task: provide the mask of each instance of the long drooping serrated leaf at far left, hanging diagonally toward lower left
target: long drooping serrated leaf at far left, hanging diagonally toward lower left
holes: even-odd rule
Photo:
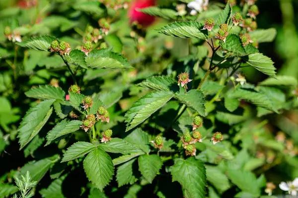
[[[51,105],[54,101],[54,99],[42,101],[27,111],[18,128],[20,149],[24,148],[46,124],[52,114]]]

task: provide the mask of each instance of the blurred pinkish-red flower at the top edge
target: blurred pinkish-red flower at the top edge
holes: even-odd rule
[[[155,0],[135,0],[131,3],[131,6],[128,11],[128,16],[130,18],[130,22],[137,22],[138,24],[141,24],[142,26],[149,26],[151,25],[155,17],[150,16],[148,14],[142,13],[137,11],[138,8],[145,8],[155,5]]]

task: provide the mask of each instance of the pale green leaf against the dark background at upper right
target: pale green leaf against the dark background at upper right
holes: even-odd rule
[[[276,29],[258,29],[249,33],[251,39],[258,43],[273,42],[276,37]]]

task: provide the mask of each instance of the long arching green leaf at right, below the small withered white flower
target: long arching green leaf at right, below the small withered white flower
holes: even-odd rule
[[[228,93],[228,97],[233,99],[244,99],[255,104],[256,106],[276,111],[275,107],[272,105],[271,100],[265,94],[256,92],[254,90],[238,88],[235,90],[231,90]]]

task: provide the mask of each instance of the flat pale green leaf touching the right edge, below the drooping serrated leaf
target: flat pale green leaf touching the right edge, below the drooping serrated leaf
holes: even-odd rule
[[[275,76],[262,81],[260,85],[264,86],[294,86],[298,85],[298,81],[293,76]]]

